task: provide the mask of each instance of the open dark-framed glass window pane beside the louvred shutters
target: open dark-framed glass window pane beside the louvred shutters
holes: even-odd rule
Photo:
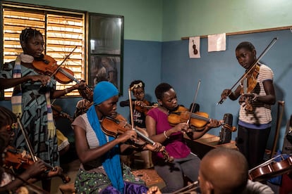
[[[90,13],[88,84],[113,83],[123,91],[123,16]]]

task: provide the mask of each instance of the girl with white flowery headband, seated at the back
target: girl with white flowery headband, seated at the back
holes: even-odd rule
[[[146,131],[145,119],[148,112],[148,108],[146,108],[146,106],[149,106],[150,103],[145,100],[145,83],[142,82],[142,80],[135,80],[130,83],[130,90],[132,91],[133,96],[135,96],[135,99],[132,100],[134,125],[135,127],[140,127]],[[121,101],[120,106],[130,106],[130,101]],[[141,152],[141,156],[144,160],[144,167],[152,167],[150,152],[143,151]]]

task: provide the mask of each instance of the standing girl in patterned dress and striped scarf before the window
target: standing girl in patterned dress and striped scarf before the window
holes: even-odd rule
[[[20,34],[20,44],[23,53],[12,63],[5,64],[0,72],[0,89],[13,87],[12,110],[21,118],[35,155],[55,167],[59,165],[59,153],[50,99],[85,88],[85,82],[56,90],[54,77],[38,72],[33,65],[43,58],[44,39],[41,32],[26,28]],[[14,145],[28,150],[21,131],[16,131]],[[50,180],[43,181],[43,188],[50,190]]]

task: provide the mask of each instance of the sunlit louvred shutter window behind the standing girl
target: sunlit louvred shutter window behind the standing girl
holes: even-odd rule
[[[58,65],[62,63],[62,67],[72,70],[76,79],[85,79],[85,13],[2,2],[2,20],[4,63],[15,60],[22,52],[19,35],[26,27],[32,27],[43,34],[44,54],[54,58]],[[56,89],[74,84],[57,83]],[[11,93],[12,89],[7,89],[5,97],[11,97]],[[67,94],[75,95],[79,95],[78,91]]]

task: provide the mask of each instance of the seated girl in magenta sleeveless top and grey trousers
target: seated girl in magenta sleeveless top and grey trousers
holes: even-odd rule
[[[147,113],[146,128],[149,137],[153,141],[162,143],[169,155],[174,157],[173,163],[166,163],[160,153],[152,154],[154,169],[166,183],[162,193],[171,193],[183,188],[184,175],[194,182],[197,181],[199,172],[200,158],[190,152],[190,148],[184,141],[183,134],[188,134],[192,139],[200,138],[212,127],[219,127],[220,122],[211,119],[203,129],[194,132],[193,129],[189,129],[186,122],[181,122],[171,127],[168,122],[168,114],[178,108],[176,91],[171,85],[162,83],[156,87],[155,96],[159,107],[152,108]]]

